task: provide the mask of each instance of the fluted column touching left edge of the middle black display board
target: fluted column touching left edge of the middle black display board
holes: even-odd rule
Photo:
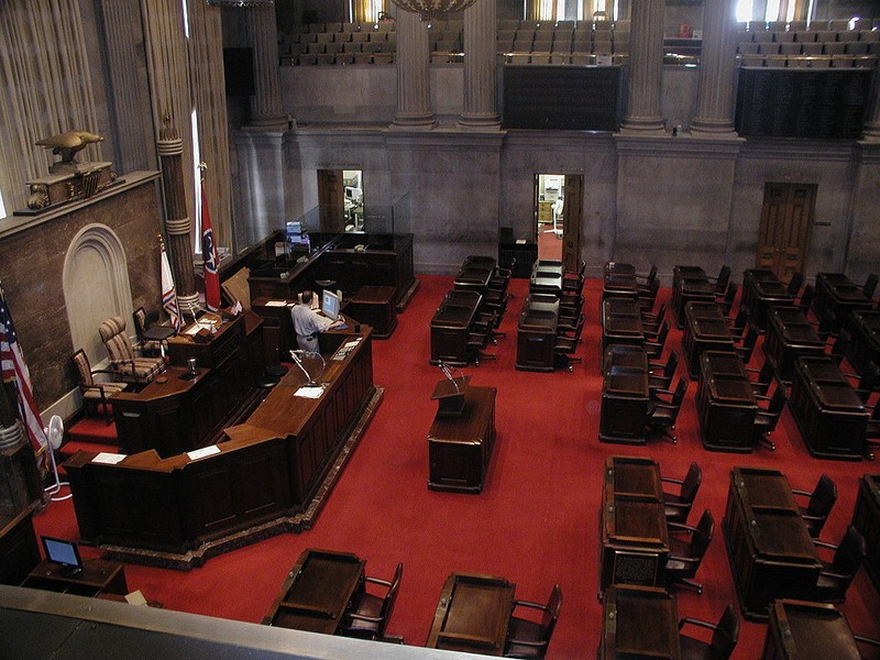
[[[495,100],[495,0],[464,10],[464,112],[462,127],[501,125]]]

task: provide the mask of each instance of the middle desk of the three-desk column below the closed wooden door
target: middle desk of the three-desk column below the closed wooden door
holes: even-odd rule
[[[825,342],[795,307],[770,309],[762,348],[765,356],[773,363],[777,377],[787,383],[794,375],[795,358],[821,358],[825,353]]]

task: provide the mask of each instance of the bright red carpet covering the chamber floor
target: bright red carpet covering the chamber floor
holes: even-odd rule
[[[514,280],[516,298],[502,327],[507,337],[492,350],[497,361],[465,370],[473,384],[498,388],[498,440],[486,487],[481,495],[428,491],[426,435],[436,410],[429,397],[440,376],[428,364],[428,322],[452,283],[449,277],[420,279],[421,288],[393,338],[374,342],[375,382],[385,387],[385,399],[316,528],[211,559],[187,573],[128,565],[132,590],[167,608],[260,622],[302,549],[345,550],[365,558],[367,573],[382,578],[404,562],[388,631],[403,635],[409,645],[425,644],[443,581],[462,571],[503,575],[516,583],[517,597],[529,601],[544,601],[553,583],[560,583],[564,603],[548,657],[593,657],[602,629],[597,509],[606,455],[651,457],[670,476],[683,476],[691,461],[702,466],[703,487],[692,521],[710,508],[716,536],[697,574],[703,595],[680,591],[679,614],[713,622],[728,602],[736,602],[721,534],[732,466],[779,469],[802,490],[812,490],[823,472],[831,475],[840,498],[823,539],[833,542],[849,524],[859,476],[880,471],[873,463],[812,459],[788,410],[773,437],[776,452],[706,452],[696,426],[695,383],[679,419],[678,446],[600,443],[600,283],[590,280],[586,288],[584,363],[574,373],[542,374],[514,369],[516,319],[526,292],[524,280]],[[664,289],[661,296],[668,294]],[[678,348],[680,338],[673,329],[668,346]],[[762,359],[759,344],[752,364]],[[70,502],[53,504],[35,521],[40,534],[78,537]],[[880,637],[880,596],[864,571],[843,609],[857,632]],[[744,623],[734,658],[759,657],[765,630]]]

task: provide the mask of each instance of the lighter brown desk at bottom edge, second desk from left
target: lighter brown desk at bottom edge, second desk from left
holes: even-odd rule
[[[443,585],[425,646],[502,656],[516,585],[504,578],[452,573]]]

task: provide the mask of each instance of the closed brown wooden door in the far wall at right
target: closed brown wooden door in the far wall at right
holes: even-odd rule
[[[803,272],[816,202],[812,184],[766,184],[755,265],[788,283]]]

